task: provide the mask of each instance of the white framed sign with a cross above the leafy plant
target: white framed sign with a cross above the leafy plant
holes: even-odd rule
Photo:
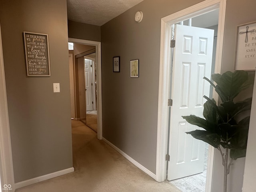
[[[238,27],[236,70],[255,70],[256,23]]]

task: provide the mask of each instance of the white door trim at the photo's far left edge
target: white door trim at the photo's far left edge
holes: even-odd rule
[[[4,185],[11,185],[13,191],[14,186],[14,172],[12,162],[12,148],[10,138],[10,126],[6,96],[6,83],[4,75],[4,56],[2,50],[2,35],[0,27],[0,191]]]

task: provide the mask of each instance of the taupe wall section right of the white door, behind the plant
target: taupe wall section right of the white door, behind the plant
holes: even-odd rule
[[[227,0],[222,72],[234,70],[236,59],[237,27],[248,22],[256,21],[255,7],[255,0]],[[248,95],[244,95],[244,98],[248,98],[250,96],[252,96],[252,90],[250,93],[248,93]],[[222,190],[223,166],[219,162],[220,158],[220,153],[216,150],[214,159],[216,163],[214,164],[213,192]],[[242,191],[244,162],[245,158],[239,158],[231,167],[231,174],[228,176],[228,188],[230,192]]]

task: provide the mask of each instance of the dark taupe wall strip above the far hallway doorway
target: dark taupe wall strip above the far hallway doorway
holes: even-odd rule
[[[100,26],[68,20],[68,37],[100,42]]]

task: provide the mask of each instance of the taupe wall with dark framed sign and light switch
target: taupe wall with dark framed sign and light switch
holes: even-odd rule
[[[0,22],[15,182],[71,168],[66,0],[1,0]],[[50,77],[26,76],[23,31],[48,34]]]

